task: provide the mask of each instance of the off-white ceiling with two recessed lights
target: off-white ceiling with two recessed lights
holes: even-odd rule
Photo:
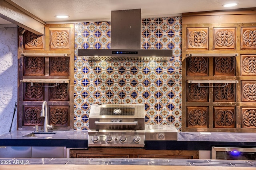
[[[256,7],[256,0],[12,0],[46,23],[109,21],[112,10],[138,9],[142,18],[181,16],[186,12],[202,12]],[[235,7],[224,8],[228,2]],[[56,15],[68,15],[58,19]],[[0,24],[11,23],[0,18]]]

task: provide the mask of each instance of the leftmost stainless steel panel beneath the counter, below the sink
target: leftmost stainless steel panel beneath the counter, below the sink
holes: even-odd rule
[[[0,147],[0,158],[31,158],[31,147]]]

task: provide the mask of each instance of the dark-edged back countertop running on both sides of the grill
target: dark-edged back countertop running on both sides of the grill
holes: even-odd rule
[[[0,146],[65,146],[88,148],[88,131],[54,131],[50,137],[24,137],[33,131],[13,131],[0,135]],[[212,146],[254,147],[256,133],[178,132],[177,141],[145,141],[145,149],[211,150]]]

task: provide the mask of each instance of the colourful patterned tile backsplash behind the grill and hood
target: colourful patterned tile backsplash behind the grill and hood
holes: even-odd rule
[[[181,17],[142,19],[142,49],[172,49],[170,61],[86,61],[77,49],[109,49],[110,21],[76,23],[74,130],[88,130],[90,106],[145,104],[147,124],[181,130]]]

